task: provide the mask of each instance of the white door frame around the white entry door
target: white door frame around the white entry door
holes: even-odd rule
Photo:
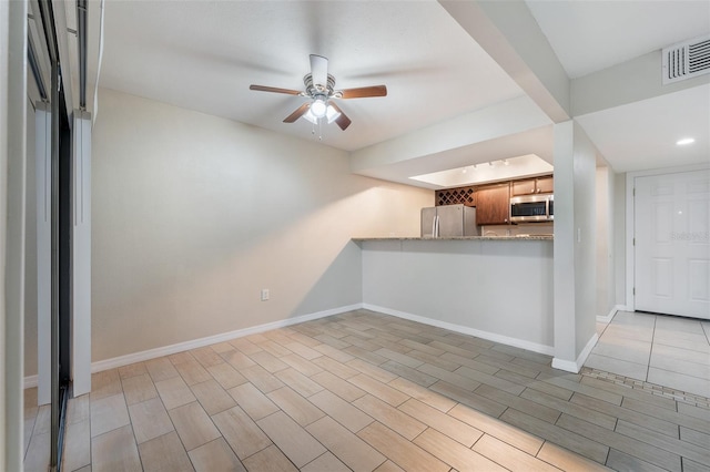
[[[636,215],[633,212],[633,183],[637,177],[649,177],[656,175],[669,175],[679,174],[682,172],[693,171],[709,171],[710,164],[694,164],[683,165],[678,167],[663,167],[649,171],[628,172],[626,174],[626,234],[625,234],[625,248],[626,248],[626,309],[629,311],[636,311],[636,296],[633,295],[633,288],[636,287],[636,257],[633,250],[633,238],[636,233],[633,230],[633,223]]]

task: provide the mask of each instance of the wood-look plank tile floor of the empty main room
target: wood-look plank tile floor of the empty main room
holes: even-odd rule
[[[95,373],[70,401],[63,470],[710,471],[709,409],[550,362],[372,311],[332,316]],[[36,394],[27,471],[49,455]]]

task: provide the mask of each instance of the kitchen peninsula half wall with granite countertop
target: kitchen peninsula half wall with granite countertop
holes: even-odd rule
[[[552,355],[552,237],[354,238],[365,308]]]

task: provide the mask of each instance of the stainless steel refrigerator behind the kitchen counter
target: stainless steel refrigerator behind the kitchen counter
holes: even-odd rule
[[[444,205],[422,208],[422,237],[479,236],[476,208]]]

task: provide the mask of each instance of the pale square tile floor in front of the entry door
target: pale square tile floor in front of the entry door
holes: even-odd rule
[[[585,366],[710,397],[710,321],[618,311]]]

